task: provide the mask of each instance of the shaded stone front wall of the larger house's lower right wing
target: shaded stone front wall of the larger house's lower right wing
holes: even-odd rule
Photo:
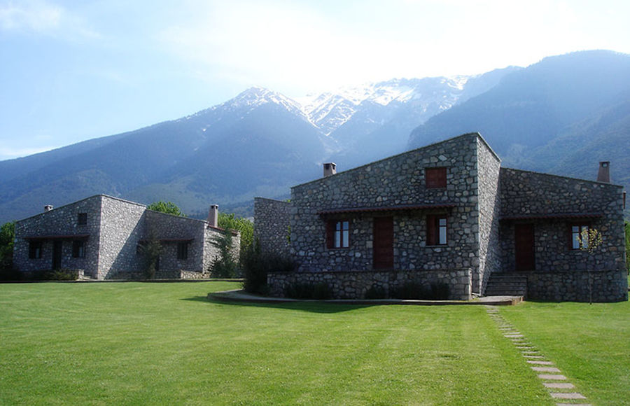
[[[562,176],[501,169],[501,216],[523,216],[501,222],[503,270],[514,265],[514,223],[534,225],[535,269],[556,272],[585,269],[624,269],[625,235],[622,187]],[[602,214],[601,218],[531,219],[549,214]],[[603,243],[594,255],[572,250],[569,228],[587,223],[602,233]]]

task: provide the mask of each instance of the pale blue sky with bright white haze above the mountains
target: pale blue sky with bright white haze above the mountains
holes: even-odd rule
[[[630,1],[0,0],[0,160],[288,97],[630,53]]]

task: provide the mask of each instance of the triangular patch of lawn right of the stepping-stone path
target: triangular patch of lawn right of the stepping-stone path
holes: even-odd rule
[[[500,313],[594,405],[630,405],[630,302],[526,302]]]

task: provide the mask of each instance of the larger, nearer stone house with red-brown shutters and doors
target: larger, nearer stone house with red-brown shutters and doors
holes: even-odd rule
[[[297,262],[269,274],[275,295],[326,283],[335,297],[360,298],[410,282],[470,299],[515,274],[529,298],[616,301],[628,294],[623,201],[609,179],[502,168],[473,133],[338,174],[325,164],[290,203],[256,198],[255,234]],[[603,239],[589,253],[577,237],[593,229]]]

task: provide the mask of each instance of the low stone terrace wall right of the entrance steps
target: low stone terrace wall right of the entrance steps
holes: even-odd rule
[[[554,302],[624,302],[628,300],[625,269],[591,272],[571,269],[563,272],[519,272],[527,276],[527,299]],[[589,281],[591,295],[589,295]]]

